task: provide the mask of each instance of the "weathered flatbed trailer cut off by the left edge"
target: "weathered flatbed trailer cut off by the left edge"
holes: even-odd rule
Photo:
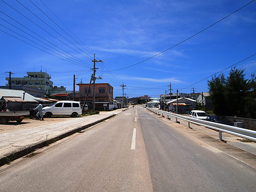
[[[0,111],[0,124],[7,124],[9,121],[20,123],[28,115],[29,111]]]

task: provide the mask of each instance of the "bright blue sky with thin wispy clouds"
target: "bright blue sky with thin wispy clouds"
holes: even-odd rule
[[[13,77],[23,77],[26,76],[26,71],[34,71],[34,69],[40,71],[42,66],[42,71],[47,71],[51,75],[53,85],[63,85],[71,91],[74,74],[77,77],[77,83],[81,79],[83,83],[90,82],[92,74],[90,68],[93,67],[91,60],[95,54],[97,60],[103,61],[103,63],[97,63],[99,69],[96,75],[102,77],[97,80],[97,83],[109,83],[113,86],[114,96],[122,95],[120,85],[123,83],[126,85],[125,93],[130,98],[145,94],[159,97],[165,91],[170,92],[168,86],[170,82],[174,92],[179,89],[183,93],[191,93],[192,87],[196,92],[207,92],[207,79],[195,85],[192,84],[256,53],[256,1],[201,34],[145,62],[141,61],[182,42],[249,3],[250,0],[31,0],[69,35],[29,0],[19,0],[19,2],[52,29],[18,1],[3,1],[0,1],[0,18],[2,18],[0,30],[40,47],[28,40],[31,39],[58,53],[59,55],[40,47],[58,57],[68,58],[66,56],[68,55],[68,59],[77,62],[77,65],[38,50],[0,31],[0,85],[6,84],[5,77],[8,76],[6,71],[12,71]],[[3,13],[27,28],[20,26]],[[3,19],[60,52],[23,33]],[[136,63],[139,64],[134,65]],[[134,66],[129,67],[131,65]],[[256,56],[239,63],[237,67],[245,69],[246,78],[250,78],[251,73],[256,69]],[[118,70],[121,68],[125,69]],[[230,68],[223,73],[226,75],[229,70]]]

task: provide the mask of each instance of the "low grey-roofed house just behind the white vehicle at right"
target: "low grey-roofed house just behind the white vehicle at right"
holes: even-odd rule
[[[173,99],[167,102],[169,111],[176,111],[177,110],[177,99]],[[178,99],[178,112],[179,113],[188,113],[196,109],[196,100],[190,98],[179,98]]]

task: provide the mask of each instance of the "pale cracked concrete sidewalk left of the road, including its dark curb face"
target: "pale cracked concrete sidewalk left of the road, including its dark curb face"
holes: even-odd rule
[[[25,156],[35,149],[42,148],[52,142],[68,137],[87,127],[105,121],[119,113],[122,109],[100,113],[98,115],[66,118],[58,123],[44,124],[39,126],[26,126],[12,132],[0,132],[0,166],[14,159]]]

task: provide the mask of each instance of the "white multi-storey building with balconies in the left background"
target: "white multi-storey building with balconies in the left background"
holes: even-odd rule
[[[6,84],[6,86],[9,86],[9,77],[6,77],[5,79],[8,81],[8,84]],[[31,87],[34,89],[44,90],[46,91],[46,94],[51,94],[51,91],[58,90],[58,87],[53,88],[53,82],[50,81],[50,79],[51,76],[45,72],[27,72],[27,76],[24,77],[11,77],[11,85],[22,85],[26,87]],[[60,87],[60,92],[66,93],[66,87]]]

